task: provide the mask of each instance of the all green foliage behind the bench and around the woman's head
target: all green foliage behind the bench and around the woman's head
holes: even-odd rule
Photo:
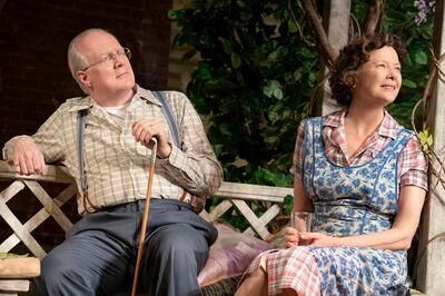
[[[318,49],[310,46],[316,39],[300,2],[191,2],[192,8],[169,12],[180,28],[174,46],[191,48],[184,59],[200,55],[187,95],[209,124],[208,136],[225,179],[290,186],[296,130],[307,114],[323,63]],[[367,1],[353,1],[352,16],[358,23],[366,9]],[[388,109],[409,127],[411,109],[427,80],[432,20],[416,26],[413,0],[386,1],[384,11],[382,30],[402,36],[409,52],[403,67],[403,89]],[[256,213],[266,206],[251,205]],[[289,207],[290,201],[284,210]],[[246,226],[236,210],[227,215],[239,219],[234,223],[238,228]]]

